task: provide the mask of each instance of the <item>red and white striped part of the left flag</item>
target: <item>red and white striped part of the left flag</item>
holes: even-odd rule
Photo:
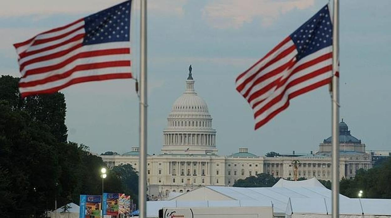
[[[14,44],[22,97],[81,82],[132,78],[129,42],[83,45],[84,35],[84,19],[79,19]]]

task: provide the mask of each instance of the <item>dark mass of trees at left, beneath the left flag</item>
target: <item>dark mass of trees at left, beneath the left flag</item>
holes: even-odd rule
[[[102,159],[83,144],[67,142],[66,103],[61,93],[21,98],[19,78],[0,78],[0,216],[43,214],[80,194],[100,195]],[[137,199],[131,165],[108,170],[104,191]]]

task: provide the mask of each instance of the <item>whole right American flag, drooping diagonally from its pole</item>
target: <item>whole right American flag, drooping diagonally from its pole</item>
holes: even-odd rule
[[[328,5],[236,79],[253,108],[255,129],[289,106],[289,100],[331,82],[333,27]]]

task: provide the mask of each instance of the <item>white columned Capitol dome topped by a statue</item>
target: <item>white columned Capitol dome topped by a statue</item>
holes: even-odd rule
[[[176,99],[163,131],[163,154],[215,154],[216,130],[208,105],[194,90],[189,69],[185,92]]]

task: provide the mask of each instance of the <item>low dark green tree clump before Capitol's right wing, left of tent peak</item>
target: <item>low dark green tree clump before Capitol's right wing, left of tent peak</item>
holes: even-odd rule
[[[250,176],[246,179],[239,179],[233,186],[235,187],[271,187],[280,180],[280,177],[274,178],[273,175],[261,173],[256,176]]]

